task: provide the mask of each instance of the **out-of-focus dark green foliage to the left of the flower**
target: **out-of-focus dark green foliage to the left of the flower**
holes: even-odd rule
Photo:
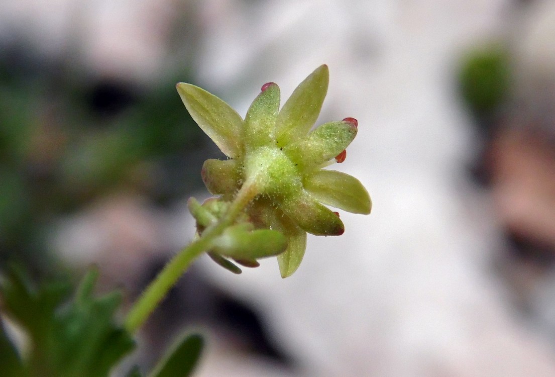
[[[98,197],[164,205],[202,185],[190,161],[204,138],[175,91],[189,73],[138,86],[18,51],[0,48],[0,270],[55,268],[48,225]]]

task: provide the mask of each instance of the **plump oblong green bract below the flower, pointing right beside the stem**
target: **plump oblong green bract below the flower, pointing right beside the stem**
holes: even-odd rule
[[[253,260],[273,257],[285,250],[287,239],[271,229],[250,230],[251,224],[238,224],[216,238],[212,250],[225,257]]]

